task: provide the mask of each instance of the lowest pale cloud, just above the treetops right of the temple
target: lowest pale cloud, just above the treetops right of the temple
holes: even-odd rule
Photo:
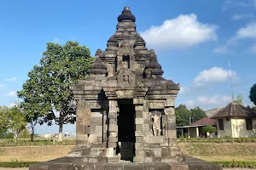
[[[198,96],[196,99],[185,102],[188,108],[200,106],[201,108],[214,108],[218,106],[227,105],[232,101],[231,96],[227,95],[213,95],[213,96]]]

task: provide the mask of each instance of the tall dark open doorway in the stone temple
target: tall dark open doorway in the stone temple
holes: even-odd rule
[[[133,161],[135,155],[135,109],[132,99],[119,100],[118,150],[120,160]]]

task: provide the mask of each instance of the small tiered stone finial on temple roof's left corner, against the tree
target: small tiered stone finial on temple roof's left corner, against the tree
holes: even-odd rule
[[[90,66],[88,71],[89,75],[106,75],[108,73],[108,68],[102,63],[100,57],[96,57],[94,63]]]

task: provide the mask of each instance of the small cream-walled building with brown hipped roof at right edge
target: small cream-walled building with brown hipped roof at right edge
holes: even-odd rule
[[[243,105],[230,103],[215,112],[211,119],[216,120],[218,137],[256,137],[256,111]]]

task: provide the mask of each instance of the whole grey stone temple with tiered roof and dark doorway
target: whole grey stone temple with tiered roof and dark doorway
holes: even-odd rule
[[[30,169],[221,169],[184,157],[177,148],[174,106],[180,86],[162,77],[129,7],[118,21],[108,47],[96,51],[88,79],[72,87],[75,148]]]

